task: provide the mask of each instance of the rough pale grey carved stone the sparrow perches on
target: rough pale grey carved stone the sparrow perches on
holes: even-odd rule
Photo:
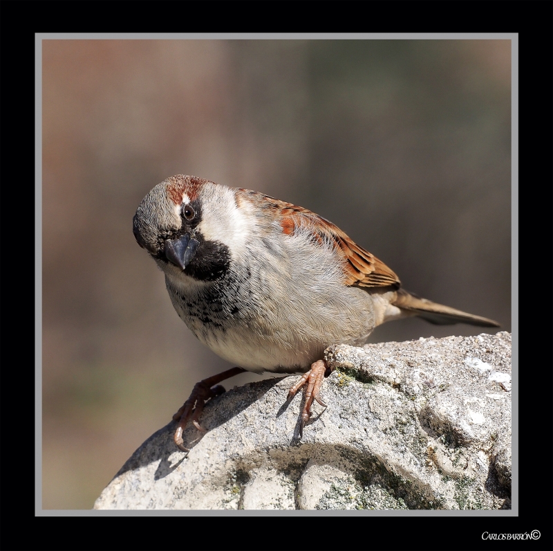
[[[324,410],[298,438],[296,376],[231,390],[154,433],[95,509],[506,509],[511,336],[329,347]]]

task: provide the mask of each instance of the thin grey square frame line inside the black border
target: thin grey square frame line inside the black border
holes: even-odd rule
[[[42,509],[42,41],[43,40],[511,40],[512,509],[505,511],[95,511]],[[35,33],[35,516],[518,516],[518,33]]]

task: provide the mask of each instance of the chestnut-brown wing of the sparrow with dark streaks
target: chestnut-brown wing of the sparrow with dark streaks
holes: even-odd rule
[[[393,287],[399,289],[400,279],[384,262],[355,244],[340,228],[306,208],[286,203],[268,195],[251,190],[243,190],[251,199],[267,208],[271,213],[279,213],[283,233],[290,235],[295,228],[305,226],[308,221],[313,228],[313,239],[322,242],[324,238],[335,242],[337,250],[347,261],[344,266],[344,283],[356,287]],[[252,197],[255,195],[256,197]],[[302,224],[302,220],[304,224]]]

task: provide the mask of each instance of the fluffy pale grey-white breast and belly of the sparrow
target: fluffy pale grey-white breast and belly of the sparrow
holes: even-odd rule
[[[276,238],[273,231],[280,232]],[[255,372],[306,371],[328,345],[360,345],[375,327],[371,295],[344,286],[332,244],[311,239],[308,228],[283,235],[274,227],[244,240],[232,251],[238,283],[209,284],[221,287],[226,308],[216,324],[190,316],[174,291],[201,302],[207,284],[168,277],[171,300],[200,341],[230,363]],[[239,314],[230,315],[233,309]]]

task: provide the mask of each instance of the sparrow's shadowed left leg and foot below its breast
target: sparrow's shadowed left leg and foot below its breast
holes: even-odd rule
[[[185,447],[184,440],[182,440],[182,431],[185,430],[190,419],[198,431],[207,433],[207,429],[200,425],[199,419],[205,406],[205,402],[209,399],[220,396],[223,392],[225,392],[225,388],[217,383],[220,383],[225,379],[229,379],[230,377],[234,377],[234,375],[244,371],[245,370],[242,368],[232,368],[196,383],[194,390],[192,390],[187,401],[185,401],[177,413],[173,415],[173,420],[178,422],[178,426],[173,437],[178,449],[184,451],[185,453],[190,451],[187,447]]]

